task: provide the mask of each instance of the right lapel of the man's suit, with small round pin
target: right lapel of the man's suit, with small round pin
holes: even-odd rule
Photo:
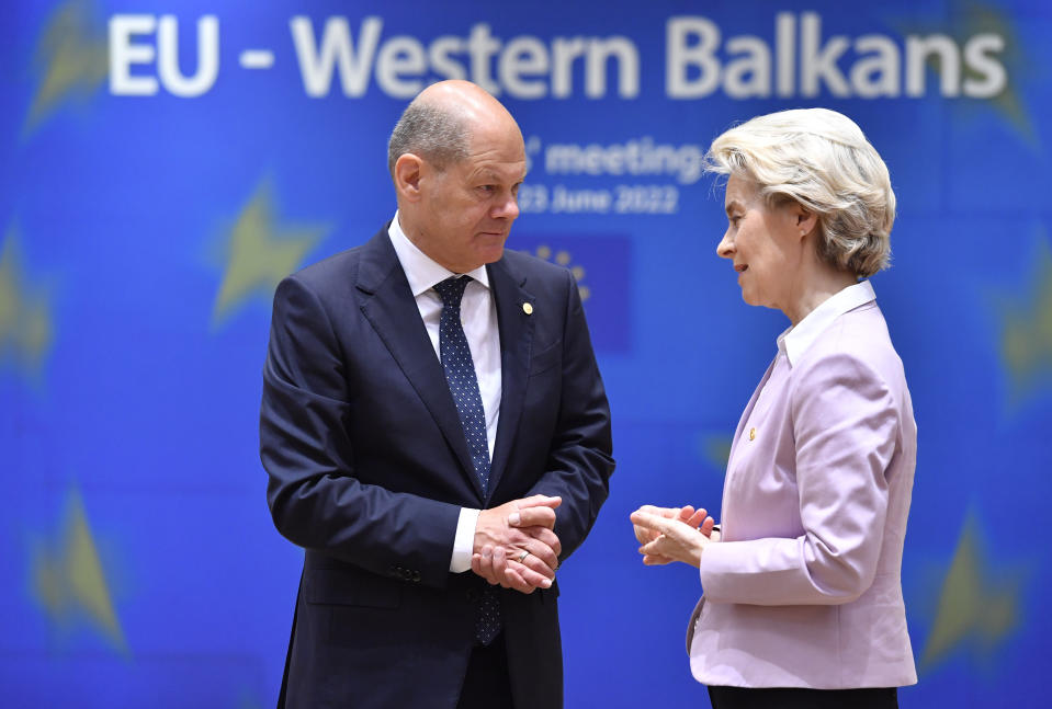
[[[533,296],[524,288],[525,278],[513,273],[507,260],[490,264],[488,272],[500,333],[500,419],[489,468],[491,495],[507,468],[522,415],[536,316],[528,315],[522,309],[524,302],[533,302]]]

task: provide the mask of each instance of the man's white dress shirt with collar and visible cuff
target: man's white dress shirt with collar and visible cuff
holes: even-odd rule
[[[497,438],[497,419],[500,414],[500,333],[497,329],[497,306],[489,288],[489,274],[486,266],[479,266],[466,274],[456,274],[439,265],[420,251],[401,230],[398,213],[387,229],[391,244],[406,272],[409,289],[416,300],[420,318],[427,328],[434,356],[441,361],[439,348],[439,322],[442,317],[442,297],[434,285],[456,275],[472,278],[461,299],[461,325],[467,338],[467,346],[475,364],[475,377],[478,379],[478,392],[483,399],[483,412],[486,416],[486,442],[489,445],[489,458],[493,460],[494,442]],[[475,541],[475,524],[478,510],[462,507],[453,539],[453,557],[450,571],[461,573],[471,569],[472,550]]]

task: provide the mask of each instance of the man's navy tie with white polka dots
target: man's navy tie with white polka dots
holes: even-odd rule
[[[489,443],[486,438],[486,411],[478,391],[475,362],[467,346],[467,336],[461,325],[461,298],[470,277],[454,276],[435,284],[442,296],[442,317],[439,320],[439,354],[450,393],[456,404],[456,413],[467,439],[475,474],[482,482],[483,494],[489,492]],[[478,596],[475,616],[475,639],[484,645],[493,642],[500,632],[500,602],[493,588],[484,588]]]

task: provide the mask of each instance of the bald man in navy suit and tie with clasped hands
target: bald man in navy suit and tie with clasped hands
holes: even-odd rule
[[[274,296],[260,455],[304,547],[279,706],[561,707],[555,571],[613,471],[573,276],[505,241],[522,135],[465,81],[391,136],[394,218]]]

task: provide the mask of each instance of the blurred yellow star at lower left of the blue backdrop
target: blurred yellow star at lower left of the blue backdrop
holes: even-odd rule
[[[53,622],[61,628],[86,622],[113,648],[127,652],[83,501],[76,490],[67,496],[56,542],[37,545],[32,578],[34,596]]]

